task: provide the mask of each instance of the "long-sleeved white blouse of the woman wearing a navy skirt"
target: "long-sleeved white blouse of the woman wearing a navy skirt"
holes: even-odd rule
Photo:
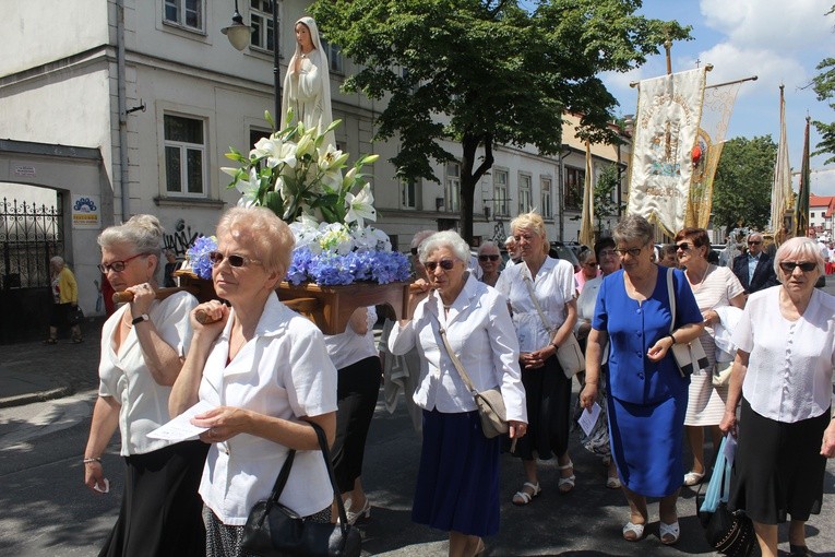
[[[508,301],[475,276],[466,281],[449,317],[440,296],[431,293],[418,304],[411,321],[392,329],[389,349],[402,356],[417,345],[420,377],[414,399],[418,406],[442,413],[472,412],[476,403],[446,353],[439,333],[443,327],[474,387],[479,391],[501,388],[508,419],[527,423],[518,342]]]

